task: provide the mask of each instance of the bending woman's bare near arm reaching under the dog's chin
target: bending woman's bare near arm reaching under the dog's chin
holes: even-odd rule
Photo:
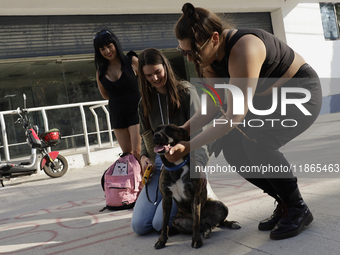
[[[214,141],[223,135],[229,133],[237,124],[231,125],[230,123],[240,123],[245,118],[248,112],[247,98],[253,97],[257,86],[258,77],[262,64],[266,57],[266,49],[263,42],[253,36],[243,36],[232,48],[229,57],[229,83],[238,87],[244,95],[244,113],[240,115],[234,114],[233,110],[233,95],[227,94],[227,124],[210,125],[202,133],[193,138],[190,142],[181,142],[175,145],[170,150],[170,155],[166,155],[167,159],[176,162],[185,154],[193,151],[204,144]],[[237,78],[241,77],[241,78]],[[248,88],[252,88],[252,94],[248,95]],[[225,119],[224,116],[221,119]],[[191,124],[191,126],[193,126]]]

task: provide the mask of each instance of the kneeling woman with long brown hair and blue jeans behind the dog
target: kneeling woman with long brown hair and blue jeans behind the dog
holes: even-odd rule
[[[138,58],[138,77],[142,99],[139,103],[140,134],[148,129],[154,131],[159,125],[183,125],[200,107],[196,89],[189,82],[176,78],[169,60],[157,49],[149,48],[140,53]],[[192,111],[190,111],[192,109]],[[142,139],[141,165],[144,172],[152,162]],[[208,154],[205,148],[195,152],[199,165],[205,166]],[[158,180],[162,161],[157,154],[150,181],[142,189],[136,201],[131,226],[135,233],[144,235],[153,229],[160,231],[163,222],[162,195],[158,189]],[[171,223],[178,210],[172,203]]]

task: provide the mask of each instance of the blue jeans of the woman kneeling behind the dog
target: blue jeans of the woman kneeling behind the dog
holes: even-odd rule
[[[151,232],[153,229],[156,231],[161,231],[163,224],[163,209],[162,209],[162,195],[159,191],[159,175],[160,169],[163,165],[162,160],[159,155],[156,155],[155,159],[156,169],[153,172],[151,179],[147,184],[147,190],[149,195],[149,200],[146,193],[146,187],[142,189],[138,196],[136,204],[133,208],[131,227],[133,231],[138,235],[145,235]],[[156,192],[158,195],[156,195]],[[157,201],[156,200],[157,197]],[[178,209],[177,205],[172,200],[172,208],[170,214],[169,227],[172,227],[172,220],[177,215]]]

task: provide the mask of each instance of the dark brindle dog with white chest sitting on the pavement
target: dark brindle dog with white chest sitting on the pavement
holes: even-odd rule
[[[232,229],[241,227],[236,221],[226,220],[228,208],[213,196],[204,173],[201,173],[200,178],[190,178],[190,168],[195,167],[190,164],[190,161],[194,162],[193,156],[188,154],[175,163],[165,158],[170,148],[180,141],[189,141],[188,132],[173,124],[159,126],[153,136],[155,152],[161,156],[163,162],[159,177],[159,190],[163,196],[163,225],[154,246],[156,249],[164,248],[168,239],[172,199],[178,207],[172,226],[182,234],[192,234],[193,248],[203,245],[200,232],[203,232],[204,238],[209,238],[211,230],[218,225]]]

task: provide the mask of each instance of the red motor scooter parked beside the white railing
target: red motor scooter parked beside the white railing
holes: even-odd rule
[[[37,151],[41,154],[40,169],[52,177],[63,176],[68,169],[68,162],[58,151],[48,152],[47,148],[55,146],[61,140],[58,129],[51,129],[38,136],[38,126],[31,126],[26,109],[26,95],[24,94],[24,109],[17,108],[19,115],[15,123],[23,124],[26,134],[27,144],[31,147],[31,157],[27,162],[0,162],[0,182],[4,187],[3,181],[13,177],[31,175],[37,172]],[[1,158],[0,158],[1,161]]]

